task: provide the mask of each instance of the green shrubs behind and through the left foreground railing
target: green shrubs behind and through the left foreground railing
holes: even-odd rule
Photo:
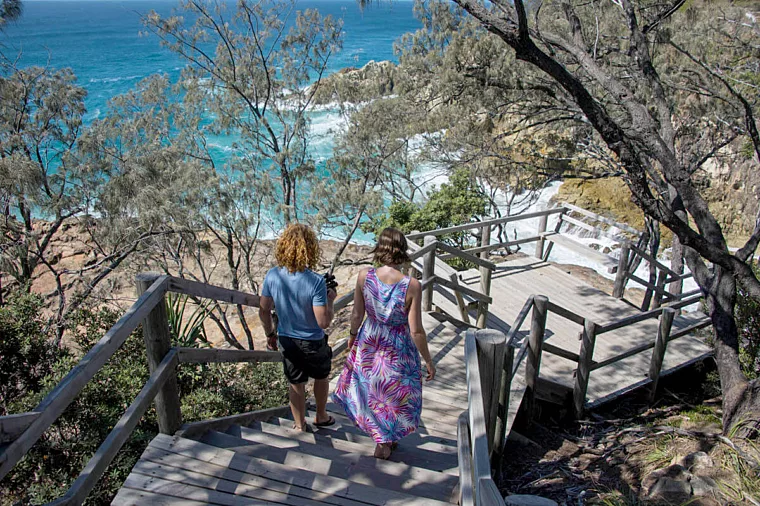
[[[9,403],[11,412],[33,409],[79,360],[65,349],[49,345],[52,336],[44,331],[40,311],[39,299],[29,295],[9,299],[0,308],[0,346],[3,346],[0,372],[10,367],[14,371],[35,371],[34,381],[24,383],[28,389],[16,391],[15,401]],[[74,348],[84,352],[103,337],[118,316],[108,308],[77,311],[70,320],[67,336]],[[8,348],[20,350],[13,354],[5,349],[13,343],[28,344]],[[36,348],[34,353],[31,348]],[[138,329],[3,481],[2,504],[16,501],[41,504],[65,492],[148,379],[144,350],[142,332]],[[25,360],[30,367],[25,367]],[[181,409],[188,422],[287,402],[287,382],[277,364],[185,365],[178,370],[178,382]],[[18,380],[15,383],[21,384]],[[110,503],[156,433],[156,414],[151,408],[90,494],[87,504]]]

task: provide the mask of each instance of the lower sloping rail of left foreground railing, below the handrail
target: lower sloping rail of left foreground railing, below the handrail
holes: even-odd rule
[[[135,400],[129,408],[116,422],[113,430],[108,434],[103,444],[101,444],[92,458],[87,462],[82,472],[79,474],[69,490],[60,499],[53,501],[51,505],[63,504],[82,504],[89,495],[98,480],[113,461],[124,443],[129,439],[132,431],[137,426],[142,416],[150,407],[151,402],[156,394],[161,390],[164,383],[173,375],[177,369],[177,351],[171,350],[164,360],[159,364],[145,386],[137,394]]]

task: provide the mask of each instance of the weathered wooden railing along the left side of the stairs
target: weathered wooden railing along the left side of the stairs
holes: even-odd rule
[[[186,434],[208,428],[218,429],[233,423],[251,423],[289,412],[290,408],[283,406],[183,426],[177,386],[179,364],[278,362],[282,355],[272,351],[171,346],[165,302],[167,292],[248,307],[259,307],[257,295],[157,274],[138,275],[137,289],[140,293],[137,301],[32,412],[0,417],[0,444],[7,444],[0,453],[0,479],[26,455],[141,323],[150,377],[66,494],[52,504],[81,504],[85,500],[153,401],[156,404],[159,430],[164,434],[174,434],[180,429]],[[352,300],[353,293],[341,297],[335,301],[335,310],[342,309]],[[345,345],[344,339],[333,350],[338,353]]]

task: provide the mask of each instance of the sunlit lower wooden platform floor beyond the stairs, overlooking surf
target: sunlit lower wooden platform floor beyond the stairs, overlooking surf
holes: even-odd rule
[[[460,283],[470,287],[478,286],[480,276],[477,271],[466,271],[459,275]],[[590,318],[598,325],[607,325],[640,314],[637,308],[584,283],[557,266],[534,257],[514,255],[499,264],[493,273],[491,296],[494,303],[489,308],[487,327],[508,332],[530,295],[546,295],[551,302]],[[458,314],[455,299],[448,290],[436,287],[433,300],[452,315]],[[679,315],[673,322],[673,332],[703,318],[704,315],[699,312]],[[522,338],[527,335],[529,325],[528,320],[521,328]],[[638,345],[652,342],[657,335],[657,326],[657,320],[650,319],[597,336],[593,359],[601,362]],[[550,312],[546,323],[546,342],[577,354],[581,330],[577,323]],[[704,360],[711,353],[712,349],[693,335],[671,341],[668,343],[661,374]],[[651,356],[651,350],[644,351],[593,371],[589,381],[587,406],[598,406],[649,383],[647,373]],[[571,360],[544,353],[540,377],[572,389],[576,368],[577,364]],[[518,377],[522,375],[518,373]]]

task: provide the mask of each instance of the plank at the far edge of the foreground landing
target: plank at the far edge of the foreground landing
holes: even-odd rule
[[[236,471],[255,474],[271,480],[282,481],[297,485],[300,487],[311,488],[313,490],[329,491],[330,494],[346,497],[356,501],[366,502],[373,505],[415,505],[424,506],[427,504],[441,505],[441,502],[434,499],[425,498],[417,495],[418,489],[409,486],[404,492],[391,489],[383,490],[378,494],[378,484],[372,483],[367,485],[359,481],[346,480],[318,474],[307,469],[295,469],[291,466],[272,462],[256,457],[235,454],[232,451],[223,448],[217,448],[197,441],[185,438],[170,438],[169,436],[159,434],[151,442],[155,448],[165,449],[174,453],[188,455],[192,458],[211,462],[216,465],[224,466]],[[356,479],[371,481],[364,476],[354,476]]]

